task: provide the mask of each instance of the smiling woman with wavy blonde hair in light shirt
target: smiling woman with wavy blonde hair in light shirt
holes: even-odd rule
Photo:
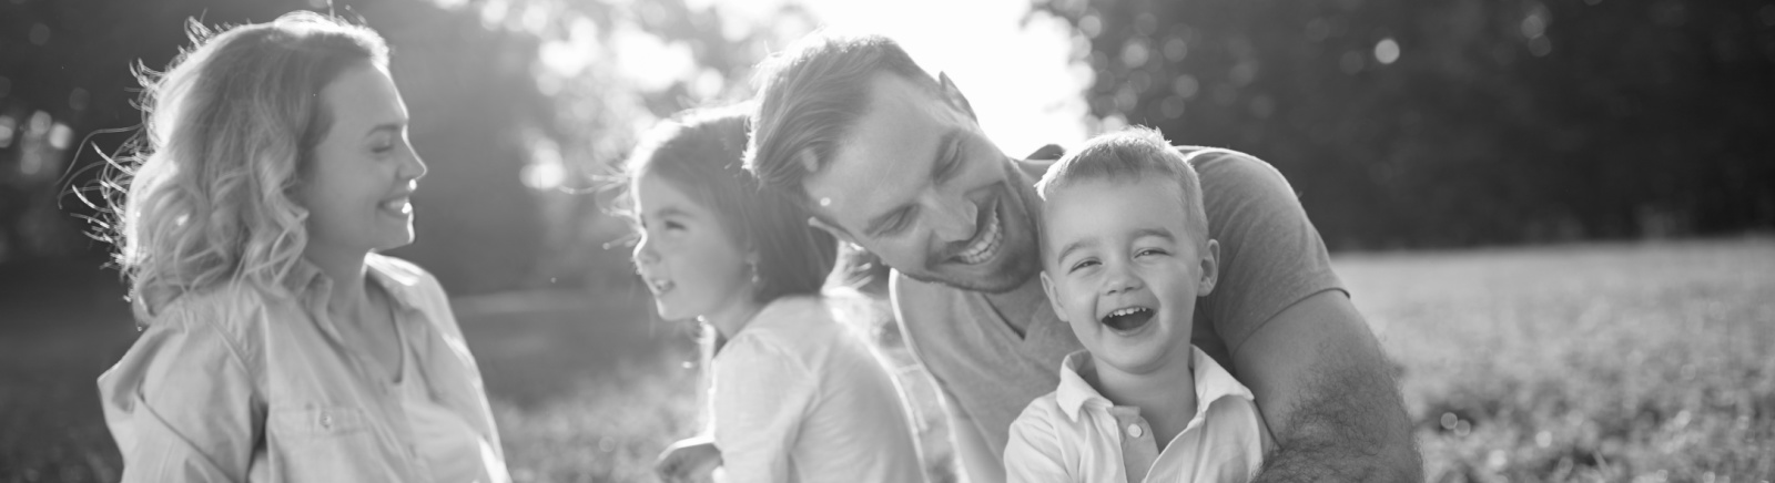
[[[311,12],[146,76],[117,261],[140,339],[99,376],[124,481],[508,481],[412,243],[426,165],[373,30]]]

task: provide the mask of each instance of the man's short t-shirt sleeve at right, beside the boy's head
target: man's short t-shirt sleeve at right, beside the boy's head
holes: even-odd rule
[[[1203,298],[1228,352],[1282,309],[1326,289],[1344,289],[1319,229],[1294,186],[1269,163],[1227,149],[1186,151],[1202,178],[1209,233],[1219,240],[1219,279]]]

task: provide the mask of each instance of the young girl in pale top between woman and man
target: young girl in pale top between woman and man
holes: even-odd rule
[[[921,481],[891,376],[820,297],[836,240],[740,169],[746,130],[740,110],[690,112],[628,160],[634,259],[659,314],[726,339],[710,435],[669,447],[660,476],[703,479],[719,462],[726,481]]]

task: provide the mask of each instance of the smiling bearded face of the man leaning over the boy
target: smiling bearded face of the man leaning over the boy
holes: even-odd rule
[[[870,87],[832,160],[802,181],[822,218],[927,282],[1006,291],[1040,272],[1033,190],[973,115],[896,75]]]

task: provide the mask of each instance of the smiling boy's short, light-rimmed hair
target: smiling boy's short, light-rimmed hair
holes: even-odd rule
[[[1132,183],[1147,176],[1164,176],[1177,181],[1182,192],[1184,227],[1198,245],[1209,243],[1209,217],[1202,206],[1202,179],[1172,142],[1157,130],[1134,126],[1086,140],[1067,153],[1035,183],[1037,195],[1049,201],[1060,188],[1081,181]],[[1044,204],[1045,206],[1045,204]],[[1045,208],[1044,208],[1045,210]]]

